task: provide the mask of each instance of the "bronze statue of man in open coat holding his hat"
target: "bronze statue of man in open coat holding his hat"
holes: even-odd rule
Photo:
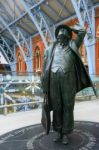
[[[77,34],[75,40],[72,40],[72,32]],[[55,30],[56,41],[44,54],[43,92],[48,96],[50,110],[53,110],[53,130],[57,132],[54,141],[63,144],[68,144],[68,134],[74,129],[76,93],[93,87],[78,51],[85,34],[85,29],[60,25]]]

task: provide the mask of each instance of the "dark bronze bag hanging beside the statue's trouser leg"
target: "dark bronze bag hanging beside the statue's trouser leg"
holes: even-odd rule
[[[44,102],[42,105],[41,123],[46,131],[46,134],[49,134],[50,126],[51,126],[51,117],[50,117],[50,109],[48,106],[47,95],[44,96]]]

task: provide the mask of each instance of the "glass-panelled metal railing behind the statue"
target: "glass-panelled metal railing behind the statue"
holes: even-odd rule
[[[7,114],[38,108],[43,102],[40,78],[39,74],[34,73],[0,74],[0,112]],[[99,76],[91,75],[91,79],[99,95]],[[85,100],[85,97],[91,96],[94,96],[91,87],[76,94],[76,98]]]

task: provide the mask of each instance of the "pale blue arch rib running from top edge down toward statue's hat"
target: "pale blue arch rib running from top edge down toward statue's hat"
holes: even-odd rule
[[[29,16],[30,16],[32,22],[35,24],[35,26],[36,26],[37,30],[39,31],[39,34],[40,34],[40,36],[41,36],[43,42],[44,42],[44,45],[45,45],[45,47],[47,48],[47,47],[48,47],[48,44],[47,44],[47,41],[46,41],[46,37],[44,36],[44,33],[42,32],[42,25],[43,25],[43,27],[44,27],[44,25],[45,25],[44,19],[42,19],[42,17],[41,17],[41,18],[40,18],[40,22],[38,22],[38,21],[37,21],[37,18],[36,18],[36,17],[37,17],[36,14],[38,14],[38,12],[36,12],[36,14],[33,15],[33,13],[31,12],[31,9],[26,6],[26,4],[25,4],[25,2],[24,2],[23,0],[21,0],[21,3],[22,3],[22,5],[24,6],[25,10],[28,12],[28,14],[29,14]],[[43,21],[43,22],[42,22],[42,21]],[[39,24],[40,24],[41,26],[40,26]],[[47,23],[46,23],[46,24],[47,24]],[[45,25],[45,28],[46,28],[46,27],[47,27],[47,26]]]

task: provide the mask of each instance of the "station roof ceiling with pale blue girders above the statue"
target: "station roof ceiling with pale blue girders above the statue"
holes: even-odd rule
[[[75,3],[79,7],[78,15]],[[74,21],[84,12],[88,20],[92,8],[95,8],[95,15],[99,16],[99,0],[0,0],[0,51],[8,64],[15,63],[15,46],[18,45],[25,62],[29,61],[32,59],[30,37],[40,35],[47,47],[46,35],[54,40],[58,25]],[[95,31],[92,27],[90,29]],[[22,49],[22,42],[26,44],[27,54]],[[26,65],[30,66],[27,62]]]

